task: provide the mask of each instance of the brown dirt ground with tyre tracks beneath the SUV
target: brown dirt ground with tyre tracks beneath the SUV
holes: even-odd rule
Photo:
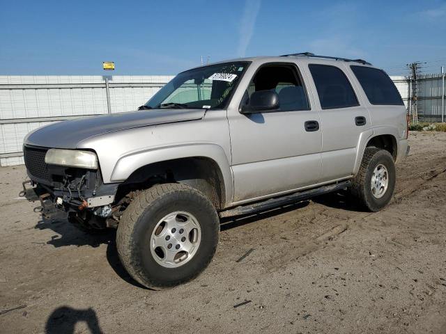
[[[222,221],[210,267],[158,292],[113,231],[42,220],[24,167],[0,168],[0,333],[446,333],[446,133],[410,145],[382,212],[334,194]]]

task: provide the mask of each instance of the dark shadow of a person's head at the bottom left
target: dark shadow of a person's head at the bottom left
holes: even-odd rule
[[[100,329],[98,317],[92,308],[75,310],[69,306],[61,306],[49,315],[45,324],[45,334],[73,334],[78,322],[86,323],[91,334],[104,333]]]

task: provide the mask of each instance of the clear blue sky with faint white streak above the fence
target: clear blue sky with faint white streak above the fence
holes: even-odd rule
[[[446,1],[0,0],[0,74],[176,74],[240,56],[446,65]],[[107,72],[109,74],[109,72]]]

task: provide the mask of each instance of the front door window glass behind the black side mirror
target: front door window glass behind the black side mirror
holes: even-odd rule
[[[265,65],[254,75],[247,93],[275,90],[279,96],[280,111],[309,110],[302,79],[293,65]]]

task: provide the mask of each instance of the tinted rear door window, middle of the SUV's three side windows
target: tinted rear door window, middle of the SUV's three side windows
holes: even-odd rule
[[[359,106],[355,91],[346,74],[339,67],[331,65],[308,65],[312,73],[322,109]]]

